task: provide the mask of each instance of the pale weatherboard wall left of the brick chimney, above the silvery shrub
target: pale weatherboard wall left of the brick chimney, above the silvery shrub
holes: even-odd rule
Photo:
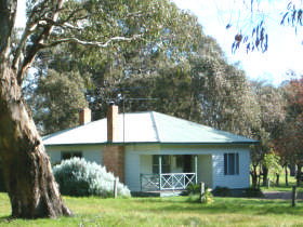
[[[82,158],[87,161],[102,164],[101,145],[76,145],[76,146],[47,146],[47,152],[50,156],[51,163],[62,161],[62,152],[82,152]]]

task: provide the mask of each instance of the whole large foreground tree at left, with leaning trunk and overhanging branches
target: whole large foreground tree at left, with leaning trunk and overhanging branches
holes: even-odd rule
[[[42,50],[73,42],[97,48],[102,55],[108,46],[119,51],[122,42],[148,41],[153,34],[166,30],[159,26],[163,23],[182,27],[186,14],[166,0],[28,0],[26,26],[13,44],[16,9],[17,0],[0,1],[0,152],[12,215],[73,215],[62,200],[24,102],[22,85],[27,69]],[[129,36],[132,28],[136,32]],[[184,43],[190,43],[189,36]]]

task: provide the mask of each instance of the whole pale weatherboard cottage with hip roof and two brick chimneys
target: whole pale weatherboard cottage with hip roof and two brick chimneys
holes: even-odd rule
[[[132,191],[185,189],[205,182],[210,188],[250,186],[249,146],[256,141],[168,115],[118,114],[80,123],[43,137],[52,163],[77,156],[103,164]]]

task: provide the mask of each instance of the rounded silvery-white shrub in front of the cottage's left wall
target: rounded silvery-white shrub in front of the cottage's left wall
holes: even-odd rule
[[[104,198],[114,196],[116,177],[113,173],[106,172],[105,166],[95,162],[75,157],[55,165],[53,173],[63,195],[95,195]],[[130,197],[129,188],[121,183],[118,183],[117,193],[120,197]]]

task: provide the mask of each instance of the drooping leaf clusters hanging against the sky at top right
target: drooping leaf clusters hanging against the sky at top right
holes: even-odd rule
[[[236,52],[242,48],[247,52],[261,51],[262,53],[268,50],[268,24],[273,22],[273,12],[269,12],[266,1],[260,0],[245,0],[242,1],[242,9],[237,15],[236,22],[228,23],[226,28],[229,29],[237,25],[235,40],[232,44],[232,51]],[[274,4],[274,2],[268,2]],[[291,26],[295,34],[302,27],[302,2],[286,1],[285,8],[280,9],[280,18],[274,18],[275,23],[281,26]],[[239,25],[240,24],[240,25]],[[234,26],[236,27],[236,26]],[[275,37],[272,37],[275,38]]]

